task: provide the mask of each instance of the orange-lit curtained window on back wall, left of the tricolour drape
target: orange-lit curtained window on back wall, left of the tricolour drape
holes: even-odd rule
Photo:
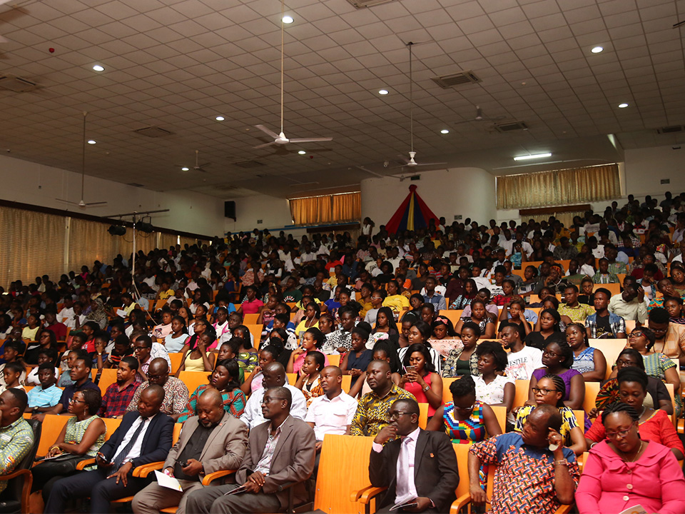
[[[295,225],[359,221],[362,216],[362,196],[359,191],[289,198],[288,203]]]

